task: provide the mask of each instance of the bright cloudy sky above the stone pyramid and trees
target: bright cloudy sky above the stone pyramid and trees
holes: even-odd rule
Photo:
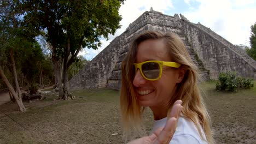
[[[126,0],[119,9],[123,17],[121,28],[114,35],[109,35],[108,41],[102,39],[98,50],[85,48],[79,55],[93,59],[151,7],[165,15],[182,14],[190,22],[200,22],[235,45],[250,45],[250,27],[256,22],[255,0]]]

